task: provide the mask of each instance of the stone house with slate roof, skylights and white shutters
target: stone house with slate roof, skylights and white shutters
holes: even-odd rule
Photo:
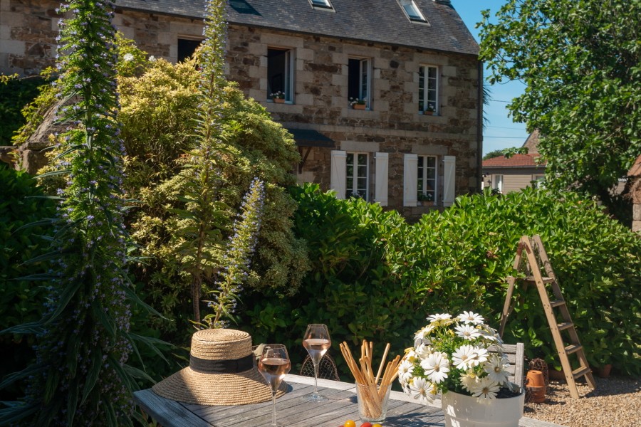
[[[202,41],[202,0],[116,4],[115,26],[150,55],[177,61]],[[0,0],[1,73],[51,64],[57,6]],[[228,11],[228,77],[293,134],[299,181],[408,217],[478,191],[482,65],[449,0],[229,0]]]

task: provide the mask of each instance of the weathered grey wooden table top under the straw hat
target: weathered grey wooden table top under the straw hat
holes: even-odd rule
[[[360,426],[354,384],[318,380],[318,391],[327,401],[311,403],[303,396],[311,394],[314,379],[287,375],[288,392],[276,399],[276,421],[286,427],[339,427],[352,419]],[[239,406],[183,404],[155,394],[151,389],[136,391],[134,400],[162,427],[271,426],[271,401]],[[437,401],[439,403],[439,401]],[[387,406],[385,427],[444,426],[439,407],[416,404],[410,396],[392,391]],[[550,423],[521,418],[521,426],[553,426]]]

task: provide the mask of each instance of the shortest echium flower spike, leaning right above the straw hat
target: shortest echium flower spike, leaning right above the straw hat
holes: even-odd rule
[[[245,194],[241,218],[234,224],[234,235],[229,237],[229,247],[223,255],[225,265],[220,273],[218,288],[209,292],[214,295],[214,301],[208,303],[214,312],[204,317],[209,327],[227,327],[229,320],[225,320],[224,317],[233,318],[236,299],[243,290],[247,269],[251,265],[251,254],[258,243],[264,203],[264,184],[259,179],[254,179]]]

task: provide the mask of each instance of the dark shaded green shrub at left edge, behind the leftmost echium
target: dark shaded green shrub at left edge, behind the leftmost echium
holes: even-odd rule
[[[42,226],[26,227],[44,217],[51,217],[51,201],[36,199],[41,191],[36,181],[25,172],[16,172],[0,163],[0,330],[38,320],[43,310],[43,290],[29,280],[16,280],[31,274],[46,273],[47,263],[24,264],[48,248],[43,235],[49,230]],[[0,378],[24,369],[33,358],[33,339],[5,334],[0,335],[4,354]],[[15,399],[16,389],[5,389],[3,399]],[[9,397],[11,396],[11,397]]]

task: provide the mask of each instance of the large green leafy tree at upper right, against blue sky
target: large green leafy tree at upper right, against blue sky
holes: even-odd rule
[[[548,185],[613,207],[641,154],[641,0],[508,0],[483,14],[490,83],[526,84],[509,109],[540,130]]]

